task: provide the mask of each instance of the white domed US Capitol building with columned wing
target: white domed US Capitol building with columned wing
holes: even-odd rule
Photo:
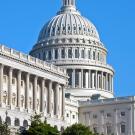
[[[114,97],[114,70],[95,26],[63,0],[29,55],[0,45],[0,122],[27,128],[42,114],[63,130],[82,123],[105,135],[135,135],[135,97]]]

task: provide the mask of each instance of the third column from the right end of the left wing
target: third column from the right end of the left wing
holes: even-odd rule
[[[52,97],[52,95],[51,95],[51,93],[52,93],[52,81],[51,80],[49,80],[49,88],[48,88],[48,113],[49,114],[51,114],[51,111],[52,111],[52,109],[51,109],[51,103],[52,103],[52,101],[51,101],[51,97]]]

